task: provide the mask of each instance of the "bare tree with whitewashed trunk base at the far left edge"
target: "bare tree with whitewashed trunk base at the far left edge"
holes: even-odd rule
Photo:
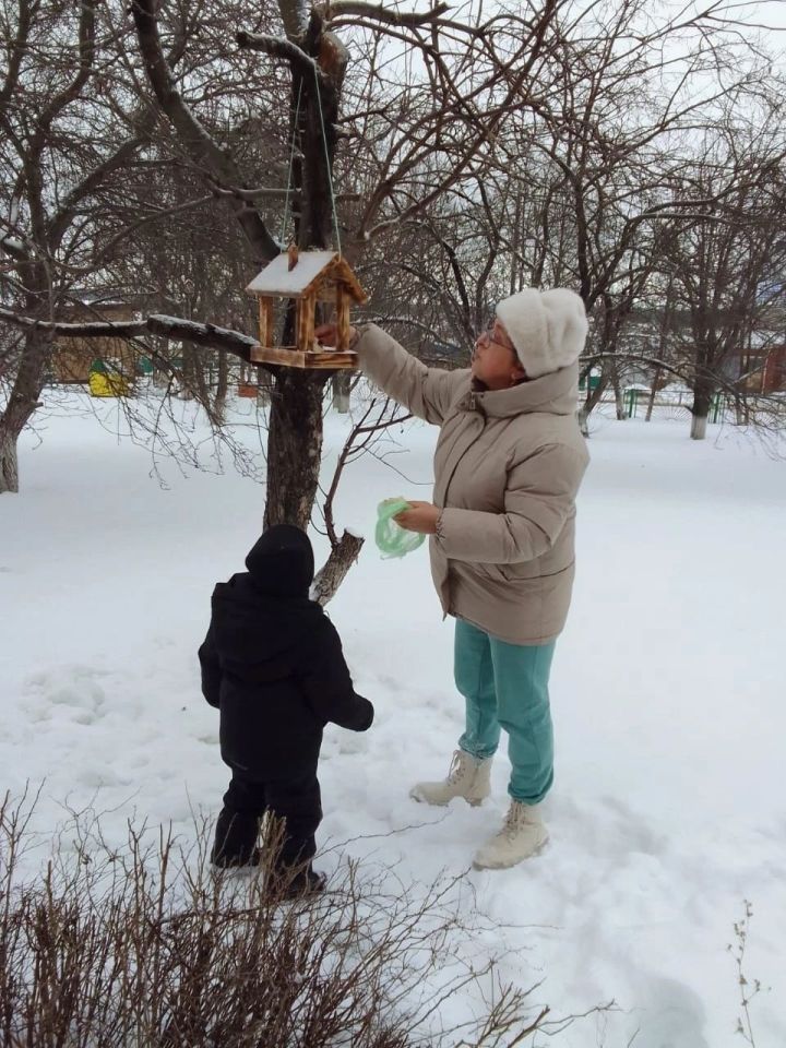
[[[127,76],[120,34],[100,0],[19,0],[0,14],[0,301],[28,319],[52,321],[128,228],[118,219],[123,179],[155,118]],[[176,41],[170,61],[178,56]],[[16,441],[50,350],[51,330],[28,325],[3,355],[0,492],[19,488]]]

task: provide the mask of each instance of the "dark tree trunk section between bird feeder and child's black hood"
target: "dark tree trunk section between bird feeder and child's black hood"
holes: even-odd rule
[[[322,392],[326,376],[281,368],[267,433],[264,527],[296,524],[306,531],[322,458]]]

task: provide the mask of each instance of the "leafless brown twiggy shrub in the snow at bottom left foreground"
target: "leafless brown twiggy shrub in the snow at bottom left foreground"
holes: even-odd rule
[[[206,821],[188,848],[130,823],[117,849],[98,817],[23,877],[31,810],[0,805],[4,1048],[504,1048],[548,1013],[493,960],[457,955],[460,878],[391,891],[390,871],[345,864],[324,895],[283,903],[265,861],[252,877],[209,867]],[[483,1005],[468,1017],[467,991]]]

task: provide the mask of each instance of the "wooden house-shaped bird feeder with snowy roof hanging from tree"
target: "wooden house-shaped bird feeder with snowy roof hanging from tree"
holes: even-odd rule
[[[288,368],[357,367],[349,349],[349,309],[368,298],[352,266],[337,251],[300,251],[290,247],[273,259],[246,288],[260,303],[260,344],[251,350],[253,364],[283,364]],[[294,346],[274,346],[275,301],[296,302]],[[321,346],[314,338],[318,302],[335,311],[335,346]]]

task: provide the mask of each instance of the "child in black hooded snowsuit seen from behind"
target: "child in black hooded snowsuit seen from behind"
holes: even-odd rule
[[[233,773],[212,861],[257,865],[259,820],[270,811],[286,820],[276,871],[282,883],[293,894],[320,891],[324,878],[310,860],[322,820],[322,729],[330,720],[366,731],[373,706],[355,693],[335,627],[309,599],[314,559],[305,532],[270,528],[246,567],[216,585],[199,650],[202,693],[221,710],[221,753]]]

